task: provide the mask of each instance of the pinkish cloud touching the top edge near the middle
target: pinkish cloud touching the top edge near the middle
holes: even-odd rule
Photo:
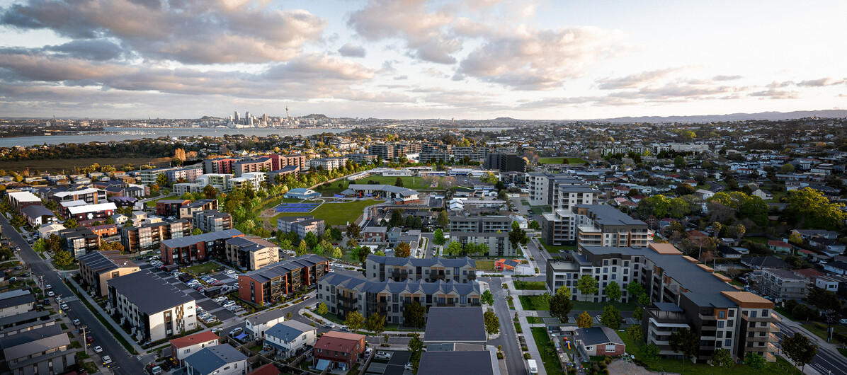
[[[423,0],[371,0],[347,21],[368,41],[400,38],[414,58],[432,63],[456,63],[451,56],[462,41],[447,31],[454,16],[441,9],[430,12]]]

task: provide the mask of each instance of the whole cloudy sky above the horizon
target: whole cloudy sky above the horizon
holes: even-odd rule
[[[847,108],[847,2],[0,0],[0,116]]]

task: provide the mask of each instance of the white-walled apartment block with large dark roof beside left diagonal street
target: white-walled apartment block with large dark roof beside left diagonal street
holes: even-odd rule
[[[109,279],[107,311],[130,323],[139,342],[157,341],[197,328],[194,298],[150,270]]]

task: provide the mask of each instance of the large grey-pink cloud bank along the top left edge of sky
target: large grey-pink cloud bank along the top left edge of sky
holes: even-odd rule
[[[0,21],[72,39],[111,38],[142,58],[203,64],[288,61],[327,25],[305,10],[225,0],[32,0],[3,9]]]

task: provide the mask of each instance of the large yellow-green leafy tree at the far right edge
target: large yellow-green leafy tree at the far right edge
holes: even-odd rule
[[[847,219],[844,204],[830,203],[821,191],[805,187],[789,196],[788,211],[806,228],[839,229]]]

